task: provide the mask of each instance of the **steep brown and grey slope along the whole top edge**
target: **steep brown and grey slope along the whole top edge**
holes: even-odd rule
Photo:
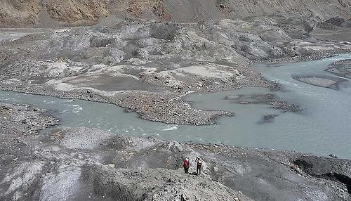
[[[350,0],[3,0],[0,27],[91,25],[112,16],[199,22],[262,15],[351,18]]]

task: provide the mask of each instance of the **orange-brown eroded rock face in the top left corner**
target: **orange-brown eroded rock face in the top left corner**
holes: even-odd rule
[[[0,2],[0,27],[91,25],[107,15],[107,1],[100,0]]]

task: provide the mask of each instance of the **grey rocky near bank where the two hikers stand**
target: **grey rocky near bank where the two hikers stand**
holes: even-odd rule
[[[57,120],[25,105],[1,103],[0,119],[0,200],[350,200],[350,160],[87,128],[37,134]]]

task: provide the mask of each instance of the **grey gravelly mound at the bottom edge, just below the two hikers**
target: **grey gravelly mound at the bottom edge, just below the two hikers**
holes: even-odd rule
[[[86,170],[84,179],[95,193],[112,200],[251,200],[216,181],[168,169],[95,166]]]

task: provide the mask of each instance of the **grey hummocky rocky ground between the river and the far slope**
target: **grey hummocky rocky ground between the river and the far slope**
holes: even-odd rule
[[[197,110],[183,97],[243,86],[279,89],[250,63],[308,60],[351,49],[343,38],[314,38],[310,21],[286,20],[3,29],[0,89],[115,103],[157,122],[213,124],[233,114]]]

